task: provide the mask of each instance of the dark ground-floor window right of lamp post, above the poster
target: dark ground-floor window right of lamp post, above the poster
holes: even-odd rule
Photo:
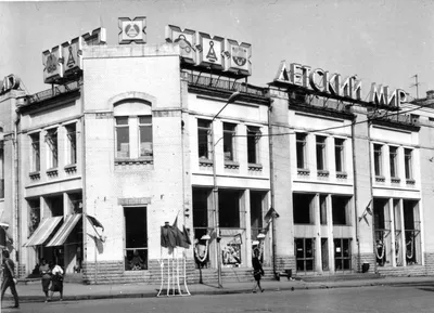
[[[220,227],[240,227],[239,191],[218,191],[218,222]]]

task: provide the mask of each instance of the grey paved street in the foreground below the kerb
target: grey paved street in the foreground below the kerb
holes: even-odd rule
[[[192,296],[178,298],[133,298],[51,303],[23,303],[20,310],[1,312],[433,312],[434,286],[358,287],[264,294]]]

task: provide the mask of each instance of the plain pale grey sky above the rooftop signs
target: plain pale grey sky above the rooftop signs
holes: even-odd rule
[[[434,89],[432,0],[0,1],[0,79],[15,74],[30,93],[50,88],[42,51],[100,26],[117,44],[117,18],[136,16],[146,16],[148,44],[163,43],[168,24],[252,43],[254,84],[285,60],[357,74],[363,93],[376,82],[416,97],[416,74],[419,97]]]

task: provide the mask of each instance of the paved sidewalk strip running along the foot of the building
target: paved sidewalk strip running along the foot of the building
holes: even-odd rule
[[[434,286],[434,276],[422,277],[380,277],[357,281],[337,282],[303,282],[303,281],[263,281],[263,288],[266,292],[282,290],[301,289],[321,289],[321,288],[347,288],[362,286]],[[165,285],[164,287],[166,287]],[[225,295],[225,294],[247,294],[252,292],[253,282],[251,283],[227,283],[222,288],[217,288],[217,284],[192,284],[188,285],[191,296],[196,295]],[[112,299],[112,298],[150,298],[156,297],[159,285],[119,284],[119,285],[82,285],[76,283],[64,284],[64,301],[91,300],[91,299]],[[28,285],[17,285],[21,302],[43,302],[44,297],[40,283]],[[181,291],[186,289],[181,286]],[[5,301],[12,300],[12,296],[5,295]],[[166,291],[161,294],[162,298],[167,297]],[[59,299],[59,292],[54,294],[54,301]]]

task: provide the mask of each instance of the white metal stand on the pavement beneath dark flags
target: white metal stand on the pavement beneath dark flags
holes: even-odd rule
[[[156,297],[191,296],[187,286],[186,253],[183,248],[163,248],[159,259],[162,284]],[[182,283],[180,283],[182,281]],[[182,284],[182,287],[181,287]],[[166,287],[166,289],[164,289]]]

